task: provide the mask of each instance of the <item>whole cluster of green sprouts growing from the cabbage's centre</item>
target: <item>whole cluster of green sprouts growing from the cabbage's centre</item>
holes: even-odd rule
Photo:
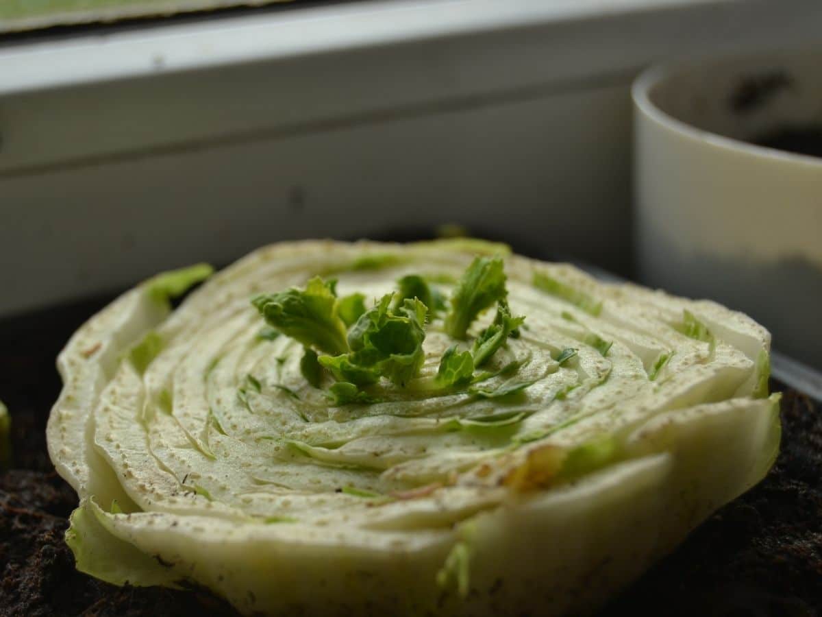
[[[335,281],[319,277],[308,281],[305,290],[291,288],[260,295],[252,304],[272,328],[272,335],[279,332],[305,346],[300,370],[308,383],[320,387],[324,370],[335,378],[337,383],[328,392],[332,404],[372,403],[377,399],[363,392],[364,387],[381,378],[405,387],[418,376],[425,360],[425,324],[436,310],[446,310],[441,294],[423,276],[408,275],[397,282],[398,293],[383,296],[368,309],[363,294],[338,299]],[[471,350],[451,346],[446,351],[434,380],[436,387],[468,386],[509,372],[504,369],[473,378],[474,369],[487,363],[509,337],[520,336],[524,317],[511,315],[506,294],[502,258],[476,257],[450,298],[446,333],[464,339],[473,321],[493,304],[497,306],[496,318],[480,333]],[[515,370],[519,364],[507,366]],[[477,388],[473,394],[502,397],[529,385],[512,382],[495,390]]]

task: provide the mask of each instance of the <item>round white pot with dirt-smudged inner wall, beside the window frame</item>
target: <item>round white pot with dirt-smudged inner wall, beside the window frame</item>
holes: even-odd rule
[[[822,127],[822,49],[653,67],[633,97],[640,280],[746,311],[822,367],[822,158],[750,142]]]

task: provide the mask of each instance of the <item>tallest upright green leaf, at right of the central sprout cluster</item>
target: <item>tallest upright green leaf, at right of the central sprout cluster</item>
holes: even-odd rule
[[[483,310],[506,297],[506,274],[501,257],[476,257],[451,295],[446,333],[464,339],[465,332]]]

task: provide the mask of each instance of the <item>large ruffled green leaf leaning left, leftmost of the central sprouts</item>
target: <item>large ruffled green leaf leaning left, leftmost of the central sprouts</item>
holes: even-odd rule
[[[345,322],[339,317],[334,294],[335,281],[324,282],[319,276],[308,281],[305,290],[292,287],[278,294],[260,295],[252,304],[270,326],[304,346],[329,354],[344,354]]]

